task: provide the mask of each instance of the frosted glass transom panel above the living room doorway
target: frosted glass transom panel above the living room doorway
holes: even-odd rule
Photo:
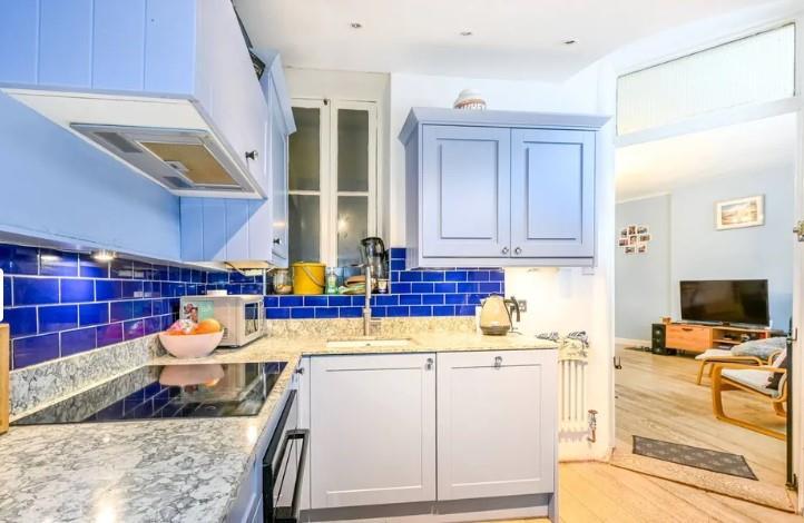
[[[780,100],[795,92],[795,26],[714,47],[617,80],[617,132]]]

